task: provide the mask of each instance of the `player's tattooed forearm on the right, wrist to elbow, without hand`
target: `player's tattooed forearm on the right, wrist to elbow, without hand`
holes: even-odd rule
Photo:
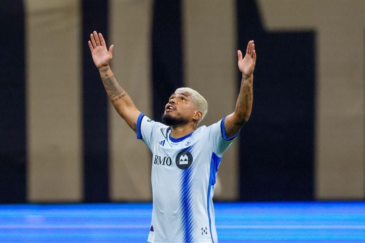
[[[246,123],[248,120],[253,101],[253,75],[246,77],[242,75],[241,88],[238,94],[236,108],[234,111],[237,119],[242,123]]]

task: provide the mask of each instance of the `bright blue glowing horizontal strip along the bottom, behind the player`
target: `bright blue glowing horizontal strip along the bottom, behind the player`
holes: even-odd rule
[[[365,202],[215,203],[220,243],[365,242]],[[145,242],[152,204],[0,205],[0,242]]]

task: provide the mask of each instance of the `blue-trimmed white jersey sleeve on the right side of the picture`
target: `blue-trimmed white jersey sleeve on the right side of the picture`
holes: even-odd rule
[[[226,129],[224,126],[224,117],[220,121],[215,124],[209,126],[209,142],[212,145],[213,152],[222,157],[222,155],[226,152],[226,150],[231,146],[232,142],[238,136],[239,132],[234,136],[227,138]]]

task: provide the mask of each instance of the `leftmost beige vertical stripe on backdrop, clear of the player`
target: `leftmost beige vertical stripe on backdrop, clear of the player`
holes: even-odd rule
[[[82,200],[81,17],[78,1],[27,0],[29,201]]]

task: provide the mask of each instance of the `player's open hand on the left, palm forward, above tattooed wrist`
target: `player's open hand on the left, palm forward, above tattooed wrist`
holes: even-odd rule
[[[112,45],[108,51],[106,49],[104,37],[101,33],[98,34],[94,31],[90,34],[90,41],[88,41],[88,44],[91,56],[97,68],[106,66],[112,61],[114,45]]]

